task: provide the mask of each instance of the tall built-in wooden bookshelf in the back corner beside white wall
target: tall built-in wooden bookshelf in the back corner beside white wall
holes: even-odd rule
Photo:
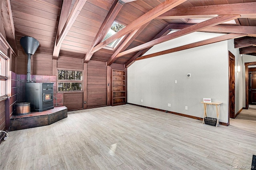
[[[112,106],[126,104],[126,71],[112,70]]]

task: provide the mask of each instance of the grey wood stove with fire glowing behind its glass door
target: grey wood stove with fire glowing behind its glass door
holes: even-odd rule
[[[31,111],[53,109],[53,83],[26,83],[26,102]]]

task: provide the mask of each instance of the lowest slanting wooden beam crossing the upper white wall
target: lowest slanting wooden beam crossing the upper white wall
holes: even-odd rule
[[[207,45],[207,44],[210,44],[210,43],[216,43],[216,42],[221,42],[221,41],[224,41],[224,40],[230,40],[230,39],[234,39],[234,38],[238,38],[238,37],[244,37],[244,36],[247,36],[247,34],[234,34],[234,33],[230,33],[230,34],[226,34],[224,36],[218,36],[218,37],[210,38],[208,40],[202,40],[200,42],[190,43],[190,44],[187,44],[187,45],[182,45],[180,47],[175,47],[175,48],[167,49],[167,50],[160,51],[160,52],[157,52],[157,53],[152,53],[152,54],[149,54],[149,55],[144,55],[142,57],[138,57],[136,59],[136,61],[137,60],[141,60],[141,59],[156,57],[156,56],[164,55],[164,54],[168,54],[168,53],[173,53],[173,52],[177,52],[177,51],[182,51],[184,49],[190,49],[190,48],[194,48],[194,47],[199,47],[199,46]]]

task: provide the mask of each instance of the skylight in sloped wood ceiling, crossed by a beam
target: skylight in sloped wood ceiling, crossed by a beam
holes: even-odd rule
[[[117,23],[117,22],[113,22],[111,28],[108,30],[107,35],[104,37],[104,39],[103,39],[102,41],[104,41],[104,40],[106,40],[107,38],[109,38],[110,36],[116,34],[119,30],[121,30],[121,29],[124,28],[124,27],[125,27],[125,26],[122,25],[122,24],[119,24],[119,23]],[[123,38],[123,37],[122,37],[122,38]],[[106,45],[106,46],[107,46],[107,47],[114,48],[115,45],[118,44],[122,38],[118,38],[117,40],[115,40],[115,41],[112,42],[112,43],[109,43],[109,44]]]

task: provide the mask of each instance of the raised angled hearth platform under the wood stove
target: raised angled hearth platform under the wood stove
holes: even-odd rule
[[[51,125],[66,117],[68,117],[68,109],[65,106],[26,115],[13,115],[10,119],[10,131]]]

